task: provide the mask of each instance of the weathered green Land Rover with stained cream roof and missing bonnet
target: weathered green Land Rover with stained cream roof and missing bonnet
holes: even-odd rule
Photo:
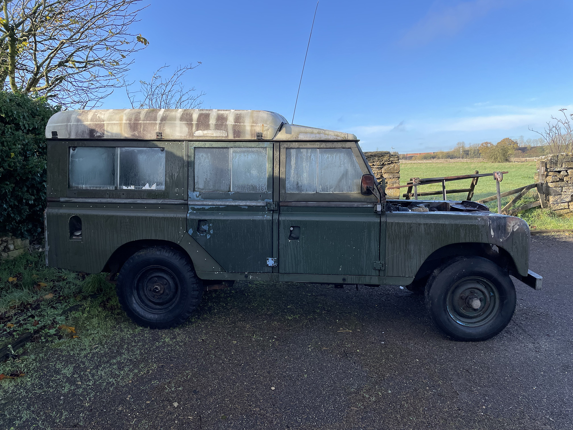
[[[167,328],[236,280],[402,285],[454,339],[512,318],[529,228],[474,202],[387,200],[355,135],[240,110],[58,112],[46,126],[46,264],[109,272]]]

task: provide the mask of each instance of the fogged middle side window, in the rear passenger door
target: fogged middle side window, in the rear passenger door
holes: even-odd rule
[[[195,148],[195,191],[267,191],[266,148]]]

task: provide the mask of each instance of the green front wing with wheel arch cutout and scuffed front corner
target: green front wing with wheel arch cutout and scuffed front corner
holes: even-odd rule
[[[521,218],[494,213],[394,212],[386,214],[386,275],[415,276],[439,248],[484,243],[505,249],[527,276],[529,227]]]

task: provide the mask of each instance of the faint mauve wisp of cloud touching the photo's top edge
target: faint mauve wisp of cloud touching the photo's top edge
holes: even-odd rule
[[[511,0],[473,0],[445,6],[434,2],[420,21],[402,37],[403,46],[421,46],[441,36],[453,36],[474,19],[484,17],[490,10],[505,6]]]

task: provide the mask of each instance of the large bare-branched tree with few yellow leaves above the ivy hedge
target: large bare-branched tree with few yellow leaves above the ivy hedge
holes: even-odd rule
[[[67,108],[99,105],[123,84],[129,55],[148,44],[129,30],[140,0],[1,1],[3,87]]]

